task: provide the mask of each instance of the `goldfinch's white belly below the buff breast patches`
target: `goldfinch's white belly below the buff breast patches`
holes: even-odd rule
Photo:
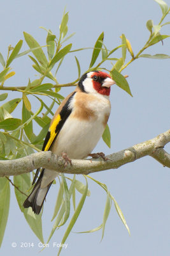
[[[59,156],[66,152],[71,159],[83,159],[96,147],[103,131],[101,120],[87,122],[70,116],[53,143],[52,151]]]

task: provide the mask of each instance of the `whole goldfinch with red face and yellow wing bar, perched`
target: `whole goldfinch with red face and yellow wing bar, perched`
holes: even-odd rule
[[[103,135],[110,116],[110,90],[115,81],[101,70],[87,72],[81,76],[74,92],[62,101],[50,122],[43,143],[43,151],[50,150],[62,156],[67,163],[71,159],[86,159],[88,156],[104,158],[103,153],[93,154],[92,150]],[[32,184],[38,177],[36,172]],[[46,194],[59,173],[41,169],[31,194],[23,206],[32,207],[35,214],[41,212]]]

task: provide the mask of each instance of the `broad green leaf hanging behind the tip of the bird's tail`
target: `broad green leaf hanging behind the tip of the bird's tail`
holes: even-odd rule
[[[22,175],[15,176],[14,184],[21,191],[23,191],[24,193],[27,193],[27,191],[31,188],[30,173],[24,173]],[[41,243],[44,243],[43,232],[42,232],[41,213],[39,215],[34,214],[34,212],[32,212],[31,207],[25,209],[22,204],[23,204],[26,196],[23,195],[22,193],[20,193],[20,191],[18,191],[18,189],[16,189],[16,188],[15,188],[15,195],[16,195],[20,210],[24,213],[25,220],[31,227],[34,234],[41,241]]]

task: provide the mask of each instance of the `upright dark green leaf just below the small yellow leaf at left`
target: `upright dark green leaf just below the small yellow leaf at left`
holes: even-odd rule
[[[29,120],[29,118],[31,118],[31,112],[26,108],[25,102],[23,101],[23,103],[22,103],[22,124],[25,124],[25,122],[27,122],[27,120]],[[29,138],[29,140],[30,140],[31,136],[33,134],[32,121],[29,124],[24,126],[24,131],[25,131],[25,134],[27,135],[27,138]]]

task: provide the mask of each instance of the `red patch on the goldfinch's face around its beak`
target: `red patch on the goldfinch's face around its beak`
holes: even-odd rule
[[[110,87],[108,88],[108,87],[102,86],[104,79],[106,79],[107,77],[111,78],[111,76],[109,74],[102,72],[102,71],[93,72],[93,74],[91,76],[94,89],[98,93],[109,96],[110,95]]]

